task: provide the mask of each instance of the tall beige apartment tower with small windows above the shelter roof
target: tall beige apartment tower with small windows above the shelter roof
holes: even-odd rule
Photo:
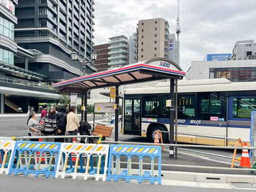
[[[152,58],[170,58],[169,24],[157,18],[141,20],[137,24],[138,61]]]

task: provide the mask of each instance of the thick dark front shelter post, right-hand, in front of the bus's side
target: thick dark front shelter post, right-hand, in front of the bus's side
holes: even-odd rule
[[[170,144],[174,144],[174,79],[170,78]],[[174,158],[174,147],[169,148],[169,157]]]

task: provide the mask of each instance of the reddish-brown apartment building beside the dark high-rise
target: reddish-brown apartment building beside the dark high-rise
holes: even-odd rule
[[[95,62],[95,67],[97,71],[107,70],[108,68],[108,57],[109,57],[109,44],[98,44],[94,46],[94,50],[97,52],[97,59]]]

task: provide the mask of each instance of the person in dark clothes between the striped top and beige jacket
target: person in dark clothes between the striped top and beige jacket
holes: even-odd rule
[[[66,132],[66,124],[67,124],[67,113],[66,107],[60,107],[57,113],[57,126],[61,131],[57,135],[63,136]],[[55,142],[64,142],[64,138],[56,138]]]

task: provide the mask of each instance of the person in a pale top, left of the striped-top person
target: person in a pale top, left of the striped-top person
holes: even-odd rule
[[[36,113],[30,113],[30,119],[28,120],[28,134],[29,136],[40,136],[39,123],[36,120]],[[31,139],[31,141],[38,141],[38,138]]]

